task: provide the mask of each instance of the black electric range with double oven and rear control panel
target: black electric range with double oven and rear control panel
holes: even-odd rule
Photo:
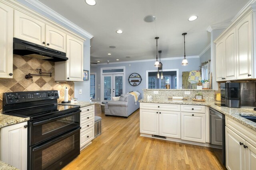
[[[3,113],[30,117],[28,169],[61,169],[80,154],[80,106],[57,103],[58,91],[7,92]]]

